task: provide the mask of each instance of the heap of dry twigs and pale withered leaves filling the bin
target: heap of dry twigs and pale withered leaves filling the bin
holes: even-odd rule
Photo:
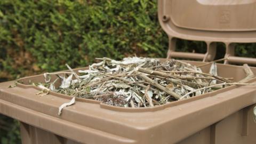
[[[166,102],[195,97],[233,83],[231,78],[217,74],[217,65],[213,62],[210,72],[203,73],[199,67],[180,60],[161,62],[150,58],[124,58],[116,61],[100,58],[88,70],[45,73],[45,83],[35,85],[42,89],[78,98],[94,99],[108,105],[119,107],[154,107]],[[245,69],[251,73],[246,65]],[[51,75],[57,75],[50,82]],[[248,78],[248,77],[247,77]],[[61,85],[56,86],[58,79]],[[250,85],[250,84],[246,84]]]

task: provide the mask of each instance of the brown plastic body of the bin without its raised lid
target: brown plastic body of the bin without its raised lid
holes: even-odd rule
[[[256,68],[252,71],[256,73]],[[241,66],[218,64],[218,74],[234,81],[245,77]],[[256,86],[229,86],[153,108],[113,107],[77,98],[58,116],[58,107],[70,97],[54,92],[39,97],[39,89],[27,85],[29,80],[43,82],[44,78],[22,78],[23,84],[11,89],[7,87],[13,81],[0,84],[0,113],[22,122],[23,143],[256,142],[252,112]]]

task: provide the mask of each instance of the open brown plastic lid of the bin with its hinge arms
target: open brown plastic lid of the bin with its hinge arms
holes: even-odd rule
[[[212,61],[216,42],[226,45],[225,63],[256,64],[253,58],[235,57],[234,43],[256,42],[256,1],[158,0],[158,19],[169,36],[167,58]],[[204,41],[205,54],[175,52],[176,38]]]

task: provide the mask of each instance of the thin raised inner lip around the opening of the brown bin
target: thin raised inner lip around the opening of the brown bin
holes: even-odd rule
[[[161,59],[161,60],[167,60],[167,59]],[[192,61],[187,61],[187,60],[184,60],[184,61],[192,62]],[[204,62],[204,63],[206,63],[206,62]],[[222,64],[222,63],[218,63],[217,65],[219,65],[219,66],[231,66],[231,67],[236,67],[236,68],[242,68],[242,66],[225,65],[225,64]],[[87,67],[76,68],[74,70],[78,71],[78,70],[83,70],[83,69],[87,69]],[[67,70],[65,70],[65,71],[67,71]],[[65,71],[62,71],[62,72],[65,72]],[[30,81],[30,79],[38,78],[38,77],[43,77],[43,74],[35,75],[35,76],[28,76],[28,77],[23,77],[23,78],[17,79],[17,82],[18,82],[17,86],[21,87],[23,89],[33,88],[33,89],[36,89],[38,91],[42,91],[43,89],[41,89],[41,88],[39,88],[37,86],[22,84],[25,81],[28,82],[28,81]],[[250,81],[248,81],[248,82],[251,83],[251,82],[254,82],[254,81],[256,81],[256,77],[250,79]],[[220,89],[220,90],[215,90],[215,91],[212,91],[212,92],[209,92],[209,93],[198,95],[196,97],[191,97],[191,98],[182,99],[182,100],[178,100],[178,101],[167,102],[167,103],[165,103],[163,105],[159,105],[159,106],[155,106],[155,107],[146,107],[146,108],[145,107],[141,107],[141,108],[117,107],[117,106],[107,105],[107,104],[105,104],[105,103],[103,103],[101,101],[98,101],[98,100],[92,100],[92,99],[86,99],[86,98],[76,98],[76,101],[87,102],[87,103],[97,103],[97,104],[100,105],[101,108],[109,109],[109,110],[113,110],[113,111],[122,111],[122,112],[127,112],[127,113],[133,113],[133,112],[134,113],[138,113],[138,112],[146,112],[146,111],[158,111],[158,110],[163,110],[163,109],[166,109],[166,108],[174,107],[174,106],[177,106],[177,105],[182,105],[183,103],[188,103],[188,102],[196,101],[196,100],[207,98],[207,97],[212,97],[212,96],[214,96],[216,94],[219,94],[219,93],[222,93],[222,92],[226,92],[226,91],[235,89],[235,88],[240,87],[240,86],[242,86],[242,85],[231,85],[231,86],[224,87],[223,89]],[[50,91],[49,94],[51,94],[51,95],[53,95],[55,97],[65,98],[65,99],[69,99],[69,100],[72,99],[72,97],[70,95],[61,94],[61,93],[57,93],[57,92],[53,92],[53,91]]]

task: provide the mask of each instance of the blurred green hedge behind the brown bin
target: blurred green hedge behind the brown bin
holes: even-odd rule
[[[89,65],[96,57],[166,56],[168,39],[149,0],[1,0],[0,82]],[[205,52],[203,42],[177,43],[178,51]],[[255,57],[255,44],[237,45]],[[218,44],[216,59],[225,54]],[[0,116],[1,143],[20,143],[18,122]]]

